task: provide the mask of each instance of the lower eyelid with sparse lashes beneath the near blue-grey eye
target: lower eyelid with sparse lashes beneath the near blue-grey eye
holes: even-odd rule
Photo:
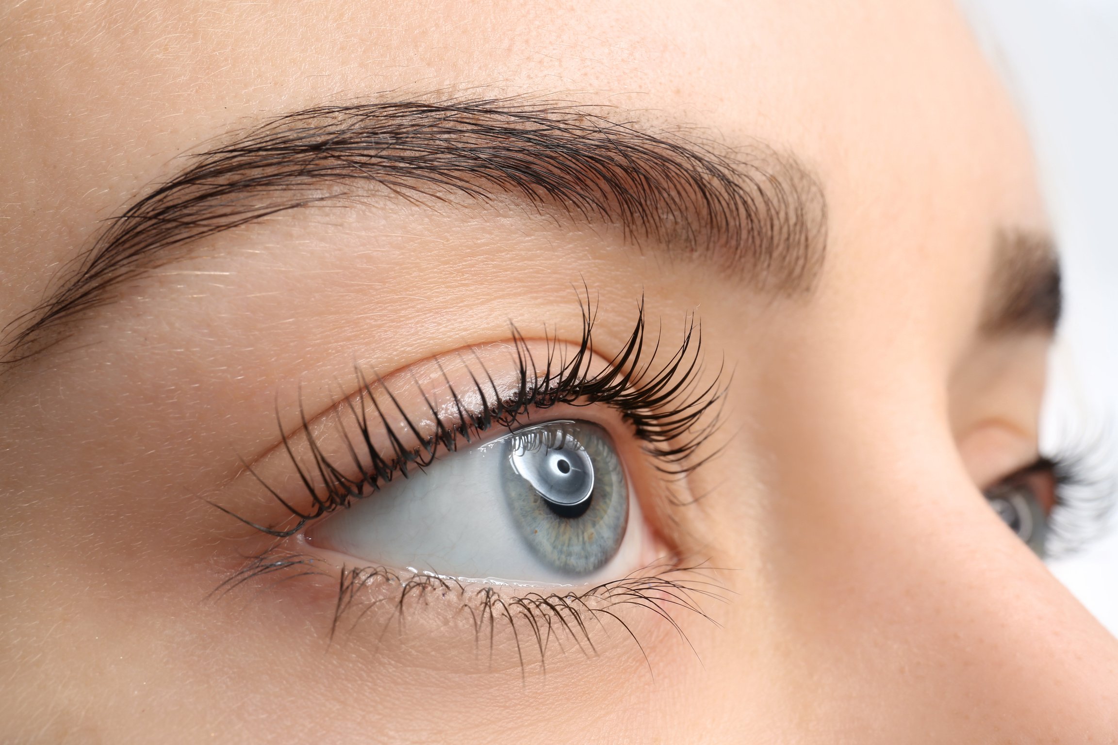
[[[372,663],[443,672],[524,676],[595,658],[648,671],[651,649],[661,659],[690,653],[688,634],[712,622],[712,605],[728,598],[717,572],[665,562],[595,585],[518,586],[323,565],[297,547],[249,560],[217,594],[266,577],[272,592],[258,602],[309,606],[318,619],[312,641],[324,649],[344,644],[348,653],[363,649]]]

